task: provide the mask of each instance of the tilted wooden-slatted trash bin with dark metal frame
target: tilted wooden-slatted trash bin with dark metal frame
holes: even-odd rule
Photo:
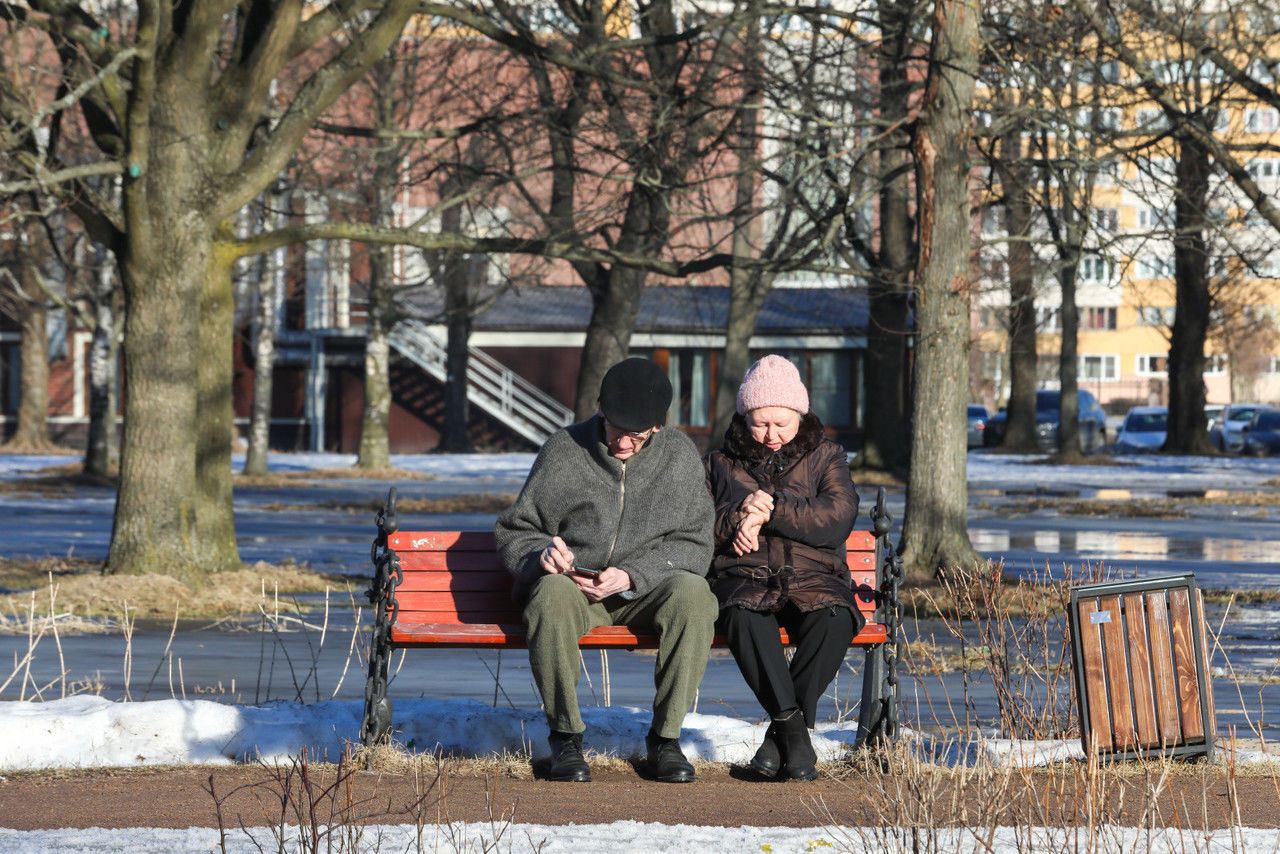
[[[1213,757],[1204,599],[1194,575],[1071,588],[1068,620],[1087,754]]]

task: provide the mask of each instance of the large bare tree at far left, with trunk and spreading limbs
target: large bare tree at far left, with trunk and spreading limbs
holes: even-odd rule
[[[47,37],[36,55],[58,58],[61,91],[83,92],[67,104],[35,90],[27,102],[41,106],[51,128],[77,113],[100,160],[124,175],[119,206],[83,181],[61,184],[86,229],[115,254],[128,301],[110,571],[200,577],[238,565],[230,223],[415,9],[407,0],[319,10],[197,0],[138,3],[100,20],[77,4],[0,8]],[[298,81],[280,77],[300,68]],[[31,145],[26,155],[31,168],[60,165],[56,145]]]

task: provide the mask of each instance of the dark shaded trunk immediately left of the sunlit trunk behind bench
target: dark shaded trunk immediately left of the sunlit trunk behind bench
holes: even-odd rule
[[[897,125],[906,118],[908,47],[911,6],[900,0],[881,0],[881,29],[877,64],[881,76],[881,120]],[[864,442],[861,463],[872,469],[904,469],[910,460],[906,439],[908,382],[908,294],[910,293],[914,243],[910,209],[910,136],[899,127],[888,134],[879,152],[878,266],[868,283],[869,323],[867,359],[863,362],[865,389]]]

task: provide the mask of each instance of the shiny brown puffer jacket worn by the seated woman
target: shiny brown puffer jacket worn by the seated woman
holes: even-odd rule
[[[722,608],[774,612],[787,602],[800,611],[846,607],[863,620],[849,585],[845,540],[858,517],[858,493],[845,449],[823,435],[813,412],[778,451],[755,442],[741,415],[724,447],[707,455],[707,485],[716,502],[716,557],[707,580]],[[773,516],[760,545],[733,553],[733,511],[756,489],[773,495]]]

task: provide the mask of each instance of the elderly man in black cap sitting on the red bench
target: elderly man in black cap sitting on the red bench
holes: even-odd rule
[[[671,382],[627,359],[600,383],[599,411],[547,440],[494,538],[516,576],[529,661],[550,727],[552,780],[589,781],[577,641],[596,626],[659,636],[649,771],[691,782],[680,726],[707,668],[718,613],[705,575],[714,508],[694,443],[663,430]]]

